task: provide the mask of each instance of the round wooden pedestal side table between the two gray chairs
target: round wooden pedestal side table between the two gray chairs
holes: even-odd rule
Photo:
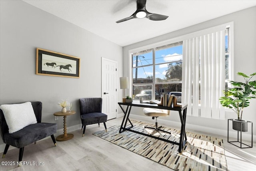
[[[76,113],[76,111],[71,110],[71,111],[67,111],[66,113],[62,113],[61,111],[58,111],[53,114],[54,116],[63,116],[64,117],[64,119],[63,119],[64,120],[64,134],[56,137],[57,141],[67,141],[74,137],[74,135],[72,133],[67,133],[66,117],[68,115],[74,115],[75,113]]]

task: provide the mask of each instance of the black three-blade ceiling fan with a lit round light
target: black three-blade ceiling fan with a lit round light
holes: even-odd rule
[[[149,20],[158,21],[165,20],[168,16],[148,12],[146,10],[146,0],[137,0],[137,10],[130,17],[118,20],[116,23],[124,22],[132,18],[148,18]]]

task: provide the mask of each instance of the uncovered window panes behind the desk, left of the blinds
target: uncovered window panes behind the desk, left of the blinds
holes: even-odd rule
[[[160,100],[162,93],[181,96],[182,42],[132,53],[132,96]]]

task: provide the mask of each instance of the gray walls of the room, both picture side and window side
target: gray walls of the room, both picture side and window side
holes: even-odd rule
[[[54,121],[53,116],[60,111],[57,103],[61,99],[69,99],[79,112],[78,98],[101,97],[101,57],[118,62],[117,78],[128,76],[128,50],[231,21],[234,21],[234,71],[256,72],[256,7],[122,48],[26,2],[0,0],[0,104],[42,101],[42,121],[58,123],[58,129],[62,129],[62,118]],[[37,47],[79,57],[80,78],[36,75]],[[239,78],[235,76],[235,80]],[[118,101],[122,101],[119,85],[117,89]],[[244,110],[244,119],[256,123],[255,111],[256,99],[253,99]],[[118,113],[121,113],[119,107]],[[143,116],[140,108],[134,107],[131,113]],[[228,118],[235,115],[227,112]],[[175,113],[166,120],[179,122]],[[226,120],[188,116],[186,127],[199,131],[218,128],[225,132]],[[67,117],[68,127],[77,124],[80,124],[79,113]]]

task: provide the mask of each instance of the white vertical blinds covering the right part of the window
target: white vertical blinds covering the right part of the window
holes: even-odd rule
[[[225,29],[183,41],[182,103],[187,115],[224,119]]]

